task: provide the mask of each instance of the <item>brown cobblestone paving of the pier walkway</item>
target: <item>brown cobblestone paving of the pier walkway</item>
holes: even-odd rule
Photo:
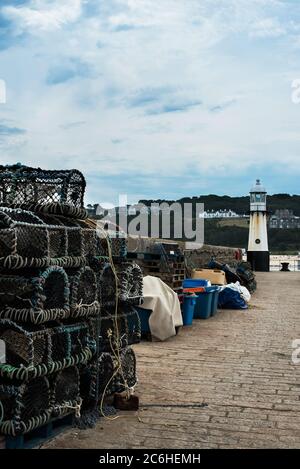
[[[300,447],[300,364],[291,360],[300,273],[257,277],[248,311],[222,311],[167,342],[135,347],[138,413],[69,430],[44,447]]]

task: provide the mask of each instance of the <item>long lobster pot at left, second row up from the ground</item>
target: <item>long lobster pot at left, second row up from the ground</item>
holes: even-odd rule
[[[26,379],[26,371],[33,375],[53,372],[67,366],[69,361],[80,360],[89,350],[94,353],[96,343],[87,323],[48,323],[48,327],[31,324],[18,325],[0,320],[0,339],[6,346],[6,364],[0,365],[0,375],[6,365],[14,368],[18,379]]]

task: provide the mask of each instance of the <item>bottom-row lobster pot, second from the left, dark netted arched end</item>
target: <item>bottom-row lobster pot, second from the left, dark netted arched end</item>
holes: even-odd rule
[[[76,366],[59,371],[51,380],[52,413],[54,416],[74,413],[81,402],[80,379]]]

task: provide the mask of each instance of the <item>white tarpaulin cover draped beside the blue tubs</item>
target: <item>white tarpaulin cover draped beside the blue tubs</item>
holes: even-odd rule
[[[149,318],[151,335],[166,340],[176,335],[175,327],[182,326],[182,315],[177,294],[160,278],[147,275],[143,285],[145,309],[153,312]]]

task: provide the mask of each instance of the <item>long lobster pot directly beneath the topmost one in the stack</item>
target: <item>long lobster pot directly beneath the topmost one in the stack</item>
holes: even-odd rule
[[[99,251],[96,231],[65,217],[0,209],[0,267],[80,267]]]

